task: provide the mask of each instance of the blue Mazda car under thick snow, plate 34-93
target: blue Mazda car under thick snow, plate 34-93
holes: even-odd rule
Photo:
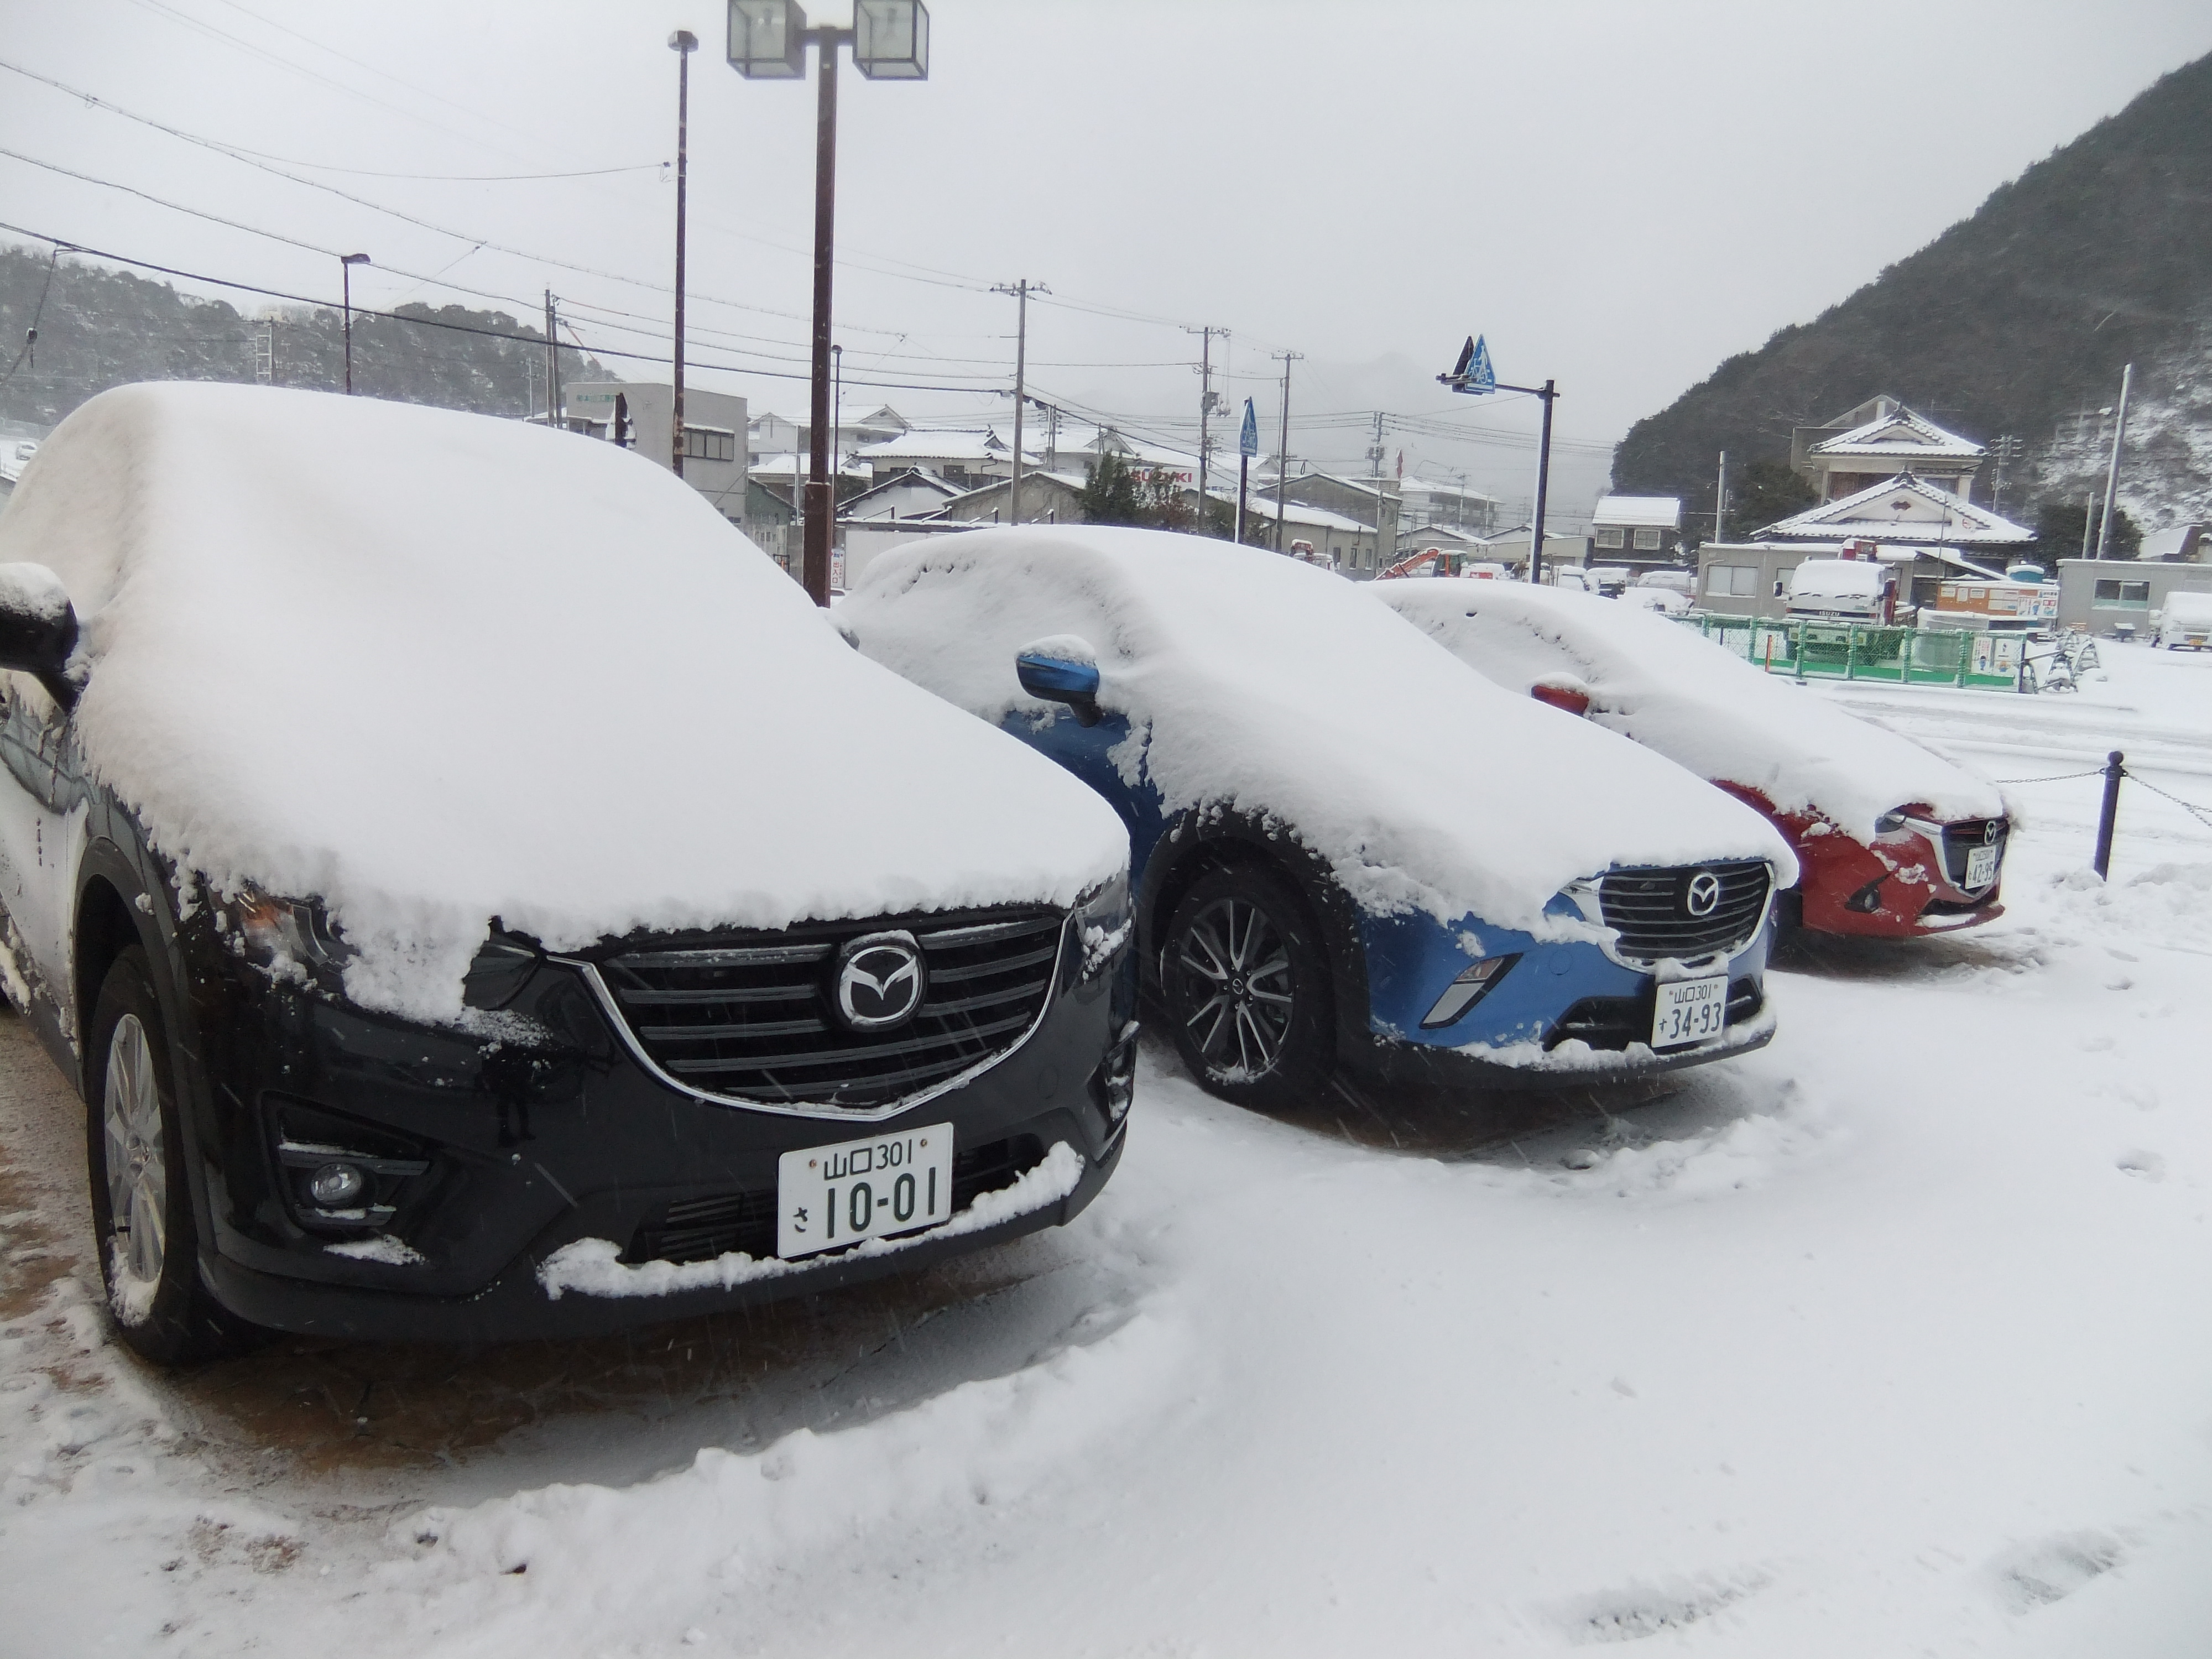
[[[1148,1006],[1217,1095],[1621,1079],[1774,1033],[1774,827],[1327,571],[989,529],[880,555],[836,615],[1115,807]]]

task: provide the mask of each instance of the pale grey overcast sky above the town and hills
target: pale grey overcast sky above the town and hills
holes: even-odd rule
[[[832,13],[849,0],[814,9]],[[1524,511],[1526,447],[1480,429],[1526,429],[1528,405],[1427,378],[1480,332],[1500,378],[1559,380],[1571,518],[1630,420],[2212,51],[2201,0],[938,0],[931,18],[925,84],[841,75],[847,405],[1004,429],[1013,301],[989,288],[1031,276],[1053,290],[1031,310],[1040,396],[1188,442],[1183,325],[1210,323],[1232,330],[1217,387],[1256,400],[1270,451],[1270,354],[1294,349],[1294,456],[1356,465],[1380,407],[1422,422],[1391,427],[1391,460],[1464,469]],[[0,73],[0,148],[305,246],[15,157],[0,219],[330,301],[354,250],[376,261],[354,283],[372,305],[531,316],[553,288],[586,343],[666,352],[675,188],[655,164],[675,155],[677,27],[701,40],[692,380],[801,409],[803,378],[759,369],[805,369],[814,86],[730,71],[717,4],[0,0],[0,62],[363,199]],[[599,168],[628,170],[484,177]]]

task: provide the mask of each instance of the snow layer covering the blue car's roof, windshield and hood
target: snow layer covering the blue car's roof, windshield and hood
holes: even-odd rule
[[[1471,675],[1340,575],[1164,531],[993,529],[880,557],[838,608],[860,650],[1000,721],[1055,710],[1015,653],[1082,635],[1099,708],[1170,812],[1274,814],[1369,909],[1553,936],[1615,865],[1796,863],[1759,814],[1648,750]],[[1573,931],[1573,925],[1568,925]]]

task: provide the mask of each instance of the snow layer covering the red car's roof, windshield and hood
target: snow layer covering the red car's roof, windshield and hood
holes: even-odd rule
[[[1942,818],[2004,812],[1993,783],[1617,599],[1526,582],[1387,582],[1374,597],[1511,692],[1573,675],[1593,721],[1863,841],[1909,803]]]

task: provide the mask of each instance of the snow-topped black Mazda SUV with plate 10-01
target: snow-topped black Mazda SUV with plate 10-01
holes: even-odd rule
[[[0,515],[0,664],[4,982],[148,1358],[830,1290],[1121,1155],[1113,812],[641,456],[106,392]]]

